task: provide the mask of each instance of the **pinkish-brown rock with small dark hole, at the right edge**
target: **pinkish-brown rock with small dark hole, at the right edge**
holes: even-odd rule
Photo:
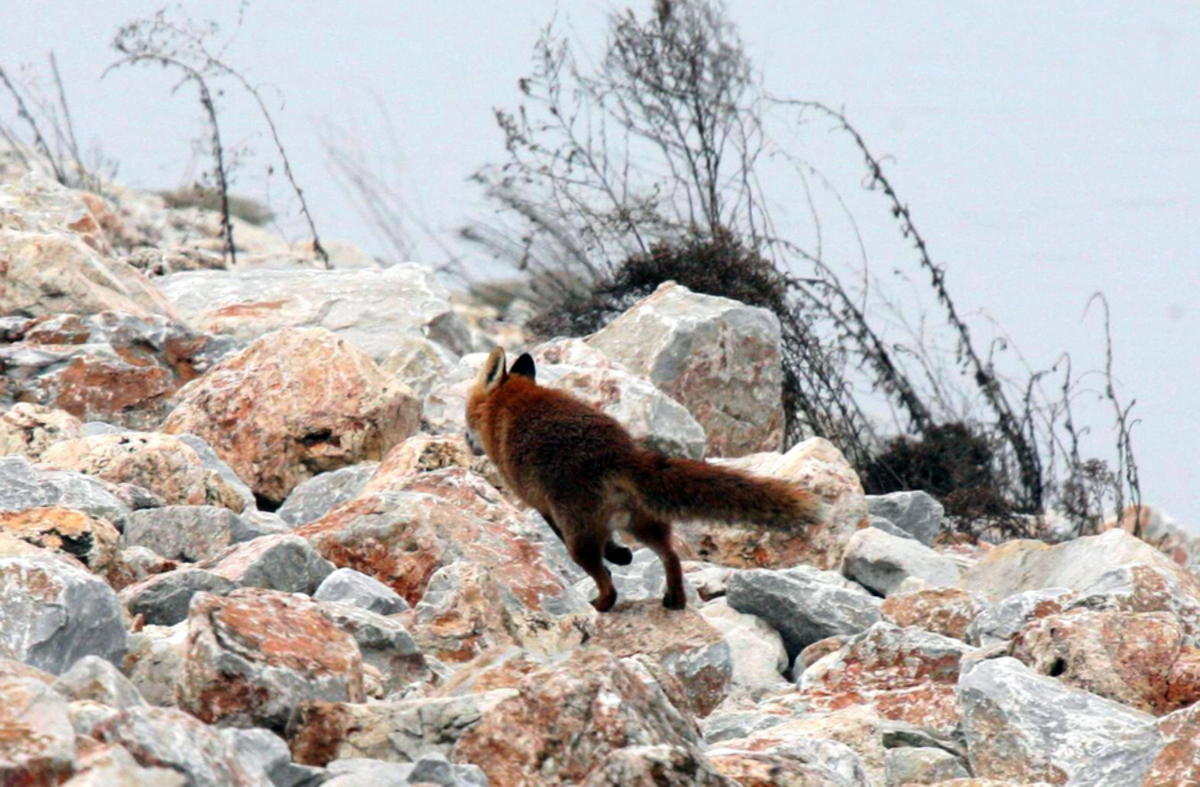
[[[1170,713],[1196,698],[1187,667],[1176,673],[1183,631],[1166,612],[1050,615],[1026,625],[1010,651],[1037,673],[1145,713]],[[1180,696],[1169,698],[1172,678]]]

